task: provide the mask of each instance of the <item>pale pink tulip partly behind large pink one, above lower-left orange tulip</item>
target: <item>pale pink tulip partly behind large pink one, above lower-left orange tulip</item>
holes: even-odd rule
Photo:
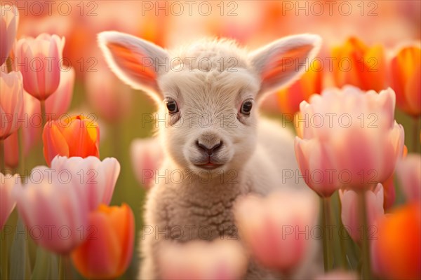
[[[88,193],[90,211],[98,208],[99,204],[111,202],[116,181],[120,174],[120,164],[115,158],[100,160],[97,157],[61,157],[56,156],[51,162],[52,169],[67,170],[74,175],[75,186]]]

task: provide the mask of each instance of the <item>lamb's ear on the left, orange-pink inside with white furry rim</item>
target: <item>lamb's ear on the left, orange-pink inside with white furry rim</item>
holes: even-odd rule
[[[98,43],[110,68],[124,83],[144,90],[157,101],[163,99],[156,78],[159,76],[158,63],[162,65],[168,59],[166,50],[117,31],[101,32]]]

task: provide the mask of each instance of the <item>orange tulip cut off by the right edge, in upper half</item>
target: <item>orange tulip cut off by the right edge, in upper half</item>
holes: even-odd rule
[[[411,116],[421,115],[421,48],[402,48],[390,64],[392,88],[396,105]]]

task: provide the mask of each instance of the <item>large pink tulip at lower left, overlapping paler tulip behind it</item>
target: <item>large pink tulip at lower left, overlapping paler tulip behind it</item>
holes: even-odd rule
[[[29,181],[15,187],[13,196],[32,239],[55,253],[67,254],[89,233],[88,195],[74,186],[78,174],[53,165],[35,167]]]

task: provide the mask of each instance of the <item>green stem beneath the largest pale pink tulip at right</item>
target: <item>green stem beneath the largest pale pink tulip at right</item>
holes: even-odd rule
[[[359,197],[359,215],[360,221],[363,222],[363,236],[361,240],[361,257],[362,257],[362,279],[371,279],[370,265],[370,244],[368,242],[368,218],[366,191],[362,190],[358,194]]]

